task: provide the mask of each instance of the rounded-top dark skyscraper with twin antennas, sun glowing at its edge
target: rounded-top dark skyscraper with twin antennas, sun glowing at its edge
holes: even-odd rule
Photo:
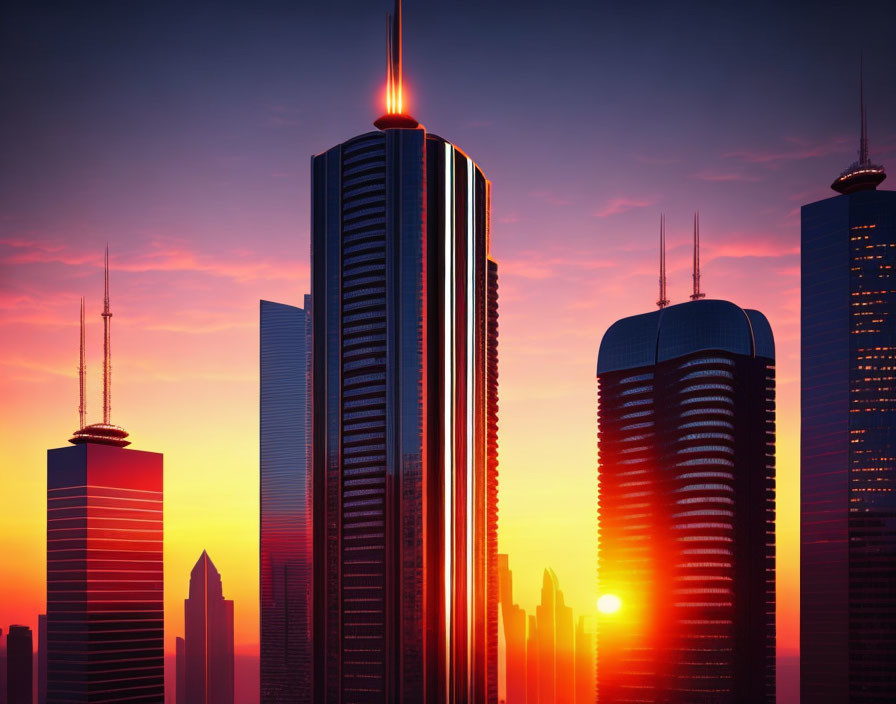
[[[758,311],[703,299],[697,233],[692,300],[668,306],[662,273],[660,310],[600,345],[606,703],[775,701],[774,341]]]

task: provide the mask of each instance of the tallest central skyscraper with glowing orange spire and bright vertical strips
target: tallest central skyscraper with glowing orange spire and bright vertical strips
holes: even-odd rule
[[[497,696],[489,182],[402,109],[312,159],[315,702]]]

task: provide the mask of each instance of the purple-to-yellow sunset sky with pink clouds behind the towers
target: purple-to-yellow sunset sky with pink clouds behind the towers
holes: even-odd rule
[[[257,648],[258,300],[308,290],[309,157],[382,112],[389,0],[20,3],[0,16],[0,627],[44,608],[48,448],[77,422],[87,297],[99,418],[165,454],[166,643],[207,549]],[[799,207],[855,158],[896,168],[896,10],[870,0],[405,4],[406,106],[492,180],[500,545],[593,611],[601,335],[669,292],[763,311],[778,344],[779,649],[798,648]],[[892,179],[893,177],[891,177]],[[885,184],[893,187],[892,184]]]

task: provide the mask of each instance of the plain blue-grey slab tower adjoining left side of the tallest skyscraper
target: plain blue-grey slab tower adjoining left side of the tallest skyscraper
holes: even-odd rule
[[[310,704],[310,296],[260,316],[261,704]]]

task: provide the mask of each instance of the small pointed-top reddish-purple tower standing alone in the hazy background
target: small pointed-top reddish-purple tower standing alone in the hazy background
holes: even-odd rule
[[[233,704],[233,601],[224,598],[221,575],[205,550],[184,599],[183,652],[177,682],[183,680],[184,699],[177,704]]]

